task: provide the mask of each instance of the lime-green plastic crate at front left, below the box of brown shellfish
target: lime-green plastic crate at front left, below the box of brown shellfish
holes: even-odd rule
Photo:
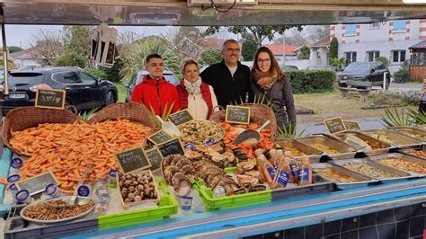
[[[166,188],[160,187],[159,190],[164,191],[164,196],[160,199],[158,208],[146,208],[100,216],[98,217],[99,230],[159,221],[177,214],[178,203],[176,199]]]

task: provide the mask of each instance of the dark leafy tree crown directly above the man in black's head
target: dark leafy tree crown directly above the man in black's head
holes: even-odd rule
[[[263,40],[274,40],[275,34],[282,35],[284,31],[292,28],[292,25],[288,26],[235,26],[227,28],[227,31],[234,34],[251,33],[256,46],[262,46]],[[298,26],[298,30],[302,30],[301,26]],[[205,34],[212,35],[220,31],[220,27],[209,27]]]

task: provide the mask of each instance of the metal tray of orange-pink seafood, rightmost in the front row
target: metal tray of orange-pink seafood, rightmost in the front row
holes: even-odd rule
[[[386,158],[395,158],[395,162],[391,161],[389,162],[390,164],[381,162],[382,160]],[[389,167],[393,167],[395,169],[402,170],[407,173],[412,173],[413,175],[417,175],[420,177],[426,176],[426,161],[418,157],[393,153],[393,154],[370,156],[370,157],[367,157],[367,159],[372,160],[376,162],[377,164],[384,164]],[[397,164],[397,166],[394,166],[394,164]],[[401,165],[401,164],[405,164],[405,165]],[[407,167],[411,167],[411,168],[407,168]]]

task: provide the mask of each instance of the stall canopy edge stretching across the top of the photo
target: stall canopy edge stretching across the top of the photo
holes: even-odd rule
[[[405,4],[403,0],[254,0],[247,4],[251,1],[235,0],[234,4],[233,0],[3,0],[3,3],[6,24],[305,25],[426,18],[426,3]]]

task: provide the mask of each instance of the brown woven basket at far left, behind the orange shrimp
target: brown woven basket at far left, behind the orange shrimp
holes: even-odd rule
[[[21,107],[9,111],[4,117],[2,138],[4,145],[13,149],[9,144],[13,131],[22,131],[26,128],[37,127],[44,123],[69,123],[79,120],[78,116],[70,111],[57,109],[42,109],[34,106]],[[16,151],[13,150],[15,153]]]

